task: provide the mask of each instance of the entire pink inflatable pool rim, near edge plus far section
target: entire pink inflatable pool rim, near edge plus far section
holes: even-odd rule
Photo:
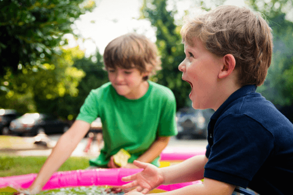
[[[161,154],[161,161],[184,161],[192,156],[205,155],[206,149],[202,147],[167,147]],[[42,190],[51,190],[63,187],[77,186],[121,186],[126,182],[121,181],[124,176],[130,176],[142,171],[142,169],[90,169],[75,170],[54,173]],[[15,189],[28,188],[37,174],[21,176],[0,177],[0,188],[7,186]],[[172,185],[161,185],[157,189],[172,191],[192,184],[200,184],[202,181],[192,181]]]

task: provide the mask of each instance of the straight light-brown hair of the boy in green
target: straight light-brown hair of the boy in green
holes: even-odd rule
[[[108,43],[104,52],[105,69],[117,66],[124,69],[137,68],[141,73],[155,75],[161,70],[157,46],[144,35],[128,33]],[[144,78],[145,80],[148,77]]]

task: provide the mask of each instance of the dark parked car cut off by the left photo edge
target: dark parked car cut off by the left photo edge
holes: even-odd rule
[[[9,125],[10,122],[21,114],[13,109],[0,109],[0,135],[9,135]]]

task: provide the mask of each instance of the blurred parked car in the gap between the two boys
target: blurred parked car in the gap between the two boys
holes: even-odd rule
[[[214,113],[211,109],[195,110],[183,108],[176,113],[177,139],[207,138],[209,119]]]

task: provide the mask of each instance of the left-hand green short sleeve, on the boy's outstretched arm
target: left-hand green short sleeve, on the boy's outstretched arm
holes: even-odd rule
[[[96,91],[91,90],[89,95],[85,98],[84,104],[82,105],[76,120],[83,120],[85,122],[92,123],[92,121],[99,116],[96,93]]]

